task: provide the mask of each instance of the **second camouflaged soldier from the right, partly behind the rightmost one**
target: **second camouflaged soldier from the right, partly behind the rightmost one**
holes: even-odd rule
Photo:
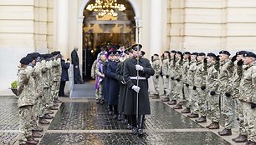
[[[237,52],[232,57],[231,61],[234,62],[233,78],[232,78],[232,96],[235,102],[236,116],[238,120],[239,135],[237,138],[232,138],[233,142],[245,143],[247,142],[247,133],[243,125],[243,101],[239,92],[239,86],[243,75],[243,54],[244,51]]]

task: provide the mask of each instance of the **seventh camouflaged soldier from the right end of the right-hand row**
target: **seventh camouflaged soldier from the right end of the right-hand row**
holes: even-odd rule
[[[190,62],[190,52],[184,52],[183,55],[183,65],[182,65],[182,83],[183,83],[183,91],[184,91],[184,100],[183,106],[186,107],[182,110],[182,113],[190,113],[190,106],[188,105],[188,97],[189,97],[189,85],[187,82],[187,73],[189,69]]]

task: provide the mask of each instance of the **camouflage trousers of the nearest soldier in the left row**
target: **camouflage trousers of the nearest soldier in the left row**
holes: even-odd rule
[[[30,120],[32,117],[32,107],[33,106],[18,107],[18,114],[19,114],[18,141],[20,144],[25,144],[27,141],[27,138],[32,137],[32,130],[30,125]]]

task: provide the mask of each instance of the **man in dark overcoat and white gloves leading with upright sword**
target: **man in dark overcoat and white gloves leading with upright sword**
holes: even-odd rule
[[[143,135],[143,124],[146,114],[151,114],[151,107],[148,94],[148,78],[153,76],[155,71],[151,67],[148,59],[141,57],[141,44],[132,46],[133,55],[131,59],[125,61],[124,78],[127,86],[125,97],[125,114],[131,115],[132,118],[132,133]],[[138,63],[138,64],[137,64]],[[139,77],[137,77],[139,71]],[[137,79],[139,80],[137,84]],[[136,122],[136,109],[137,109],[137,93],[139,95],[138,101],[138,122]]]

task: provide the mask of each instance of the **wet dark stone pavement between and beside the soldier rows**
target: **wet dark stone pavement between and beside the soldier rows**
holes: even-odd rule
[[[40,144],[171,144],[228,145],[232,137],[221,138],[217,131],[204,128],[160,100],[151,100],[151,115],[146,116],[145,136],[138,138],[123,122],[113,120],[105,105],[93,99],[61,98],[64,102],[44,128]],[[15,97],[0,97],[0,144],[18,144],[18,108]],[[242,143],[244,144],[244,143]]]

